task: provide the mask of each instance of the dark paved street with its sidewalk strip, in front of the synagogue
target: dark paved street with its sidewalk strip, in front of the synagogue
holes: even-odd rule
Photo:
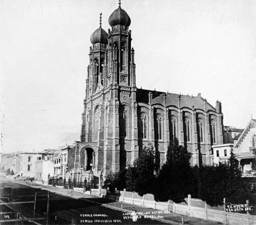
[[[37,192],[36,210],[34,217],[42,218],[41,221],[25,222],[24,224],[46,224],[47,193],[50,191],[50,210],[48,224],[182,224],[182,216],[174,213],[161,212],[160,210],[142,208],[140,206],[112,202],[104,198],[85,195],[52,186],[36,184],[22,184],[0,181],[0,188],[11,186],[10,202],[12,209],[1,209],[2,212],[14,210],[24,217],[33,217],[34,196]],[[24,204],[23,204],[24,202]],[[135,208],[140,215],[136,222],[131,219],[131,212]],[[142,215],[143,214],[143,215]],[[145,214],[155,217],[145,218]],[[14,214],[9,214],[10,219]],[[160,218],[157,218],[160,217]],[[184,224],[218,224],[202,219],[183,217]],[[5,222],[2,224],[12,224]]]

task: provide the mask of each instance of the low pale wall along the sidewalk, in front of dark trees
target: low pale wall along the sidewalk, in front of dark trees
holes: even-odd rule
[[[224,211],[223,206],[212,208],[201,199],[192,199],[190,195],[185,199],[185,203],[176,204],[169,200],[167,203],[155,201],[152,194],[139,196],[136,192],[120,191],[119,197],[111,197],[112,200],[122,201],[139,205],[147,208],[158,210],[171,210],[174,213],[188,215],[189,217],[196,217],[205,219],[206,221],[215,221],[229,225],[252,225],[256,224],[256,216],[242,213],[232,213]]]

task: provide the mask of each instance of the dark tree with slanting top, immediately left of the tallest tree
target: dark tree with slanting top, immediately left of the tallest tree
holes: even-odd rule
[[[155,151],[151,143],[139,152],[139,157],[126,173],[128,191],[136,191],[139,195],[152,193],[155,179]]]

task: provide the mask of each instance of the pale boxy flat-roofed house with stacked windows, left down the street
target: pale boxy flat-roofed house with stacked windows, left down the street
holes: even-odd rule
[[[42,159],[40,152],[21,152],[20,154],[21,177],[36,177],[36,161]]]

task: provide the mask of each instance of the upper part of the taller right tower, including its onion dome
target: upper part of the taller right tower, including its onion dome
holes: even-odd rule
[[[111,29],[108,30],[108,69],[109,82],[119,86],[135,87],[134,50],[131,48],[131,19],[119,7],[109,16]]]

